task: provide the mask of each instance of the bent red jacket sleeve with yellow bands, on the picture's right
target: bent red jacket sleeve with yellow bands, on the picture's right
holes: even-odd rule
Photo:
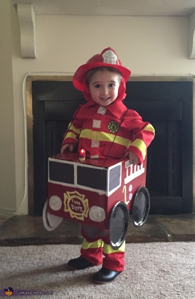
[[[140,160],[139,165],[143,162],[146,157],[147,148],[154,139],[155,129],[149,122],[142,121],[141,116],[131,110],[134,117],[129,118],[127,125],[131,128],[131,133],[133,134],[133,140],[127,151],[134,153]]]

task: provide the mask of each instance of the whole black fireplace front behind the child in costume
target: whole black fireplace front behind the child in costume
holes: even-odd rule
[[[29,213],[41,215],[47,197],[48,157],[59,153],[63,133],[85,100],[70,77],[29,77],[28,82],[33,114]],[[156,131],[147,161],[150,214],[192,213],[193,77],[132,77],[126,93],[125,105]]]

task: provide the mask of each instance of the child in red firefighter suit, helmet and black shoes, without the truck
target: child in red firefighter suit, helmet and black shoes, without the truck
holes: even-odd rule
[[[90,158],[117,159],[128,155],[133,165],[143,162],[154,138],[154,128],[122,102],[130,75],[131,71],[121,65],[110,47],[76,70],[73,85],[83,92],[87,103],[76,111],[64,134],[61,153],[84,148]],[[82,225],[82,236],[81,256],[68,262],[72,270],[102,264],[101,270],[93,275],[93,281],[102,284],[122,274],[125,241],[118,250],[113,250],[108,230],[100,232],[88,225]]]

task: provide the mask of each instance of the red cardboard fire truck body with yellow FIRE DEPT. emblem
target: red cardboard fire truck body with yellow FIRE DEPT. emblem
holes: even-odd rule
[[[113,207],[124,202],[132,213],[137,192],[145,185],[146,159],[140,166],[133,166],[128,158],[86,158],[80,162],[78,154],[58,154],[48,160],[47,213],[108,229]],[[145,223],[149,212],[149,203],[144,205],[144,217],[138,219],[140,225]]]

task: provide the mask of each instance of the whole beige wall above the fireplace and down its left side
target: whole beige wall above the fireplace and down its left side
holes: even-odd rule
[[[28,214],[22,99],[28,73],[73,73],[111,46],[133,76],[195,74],[195,60],[187,58],[188,17],[37,15],[35,22],[37,57],[23,59],[17,13],[0,1],[0,215]]]

